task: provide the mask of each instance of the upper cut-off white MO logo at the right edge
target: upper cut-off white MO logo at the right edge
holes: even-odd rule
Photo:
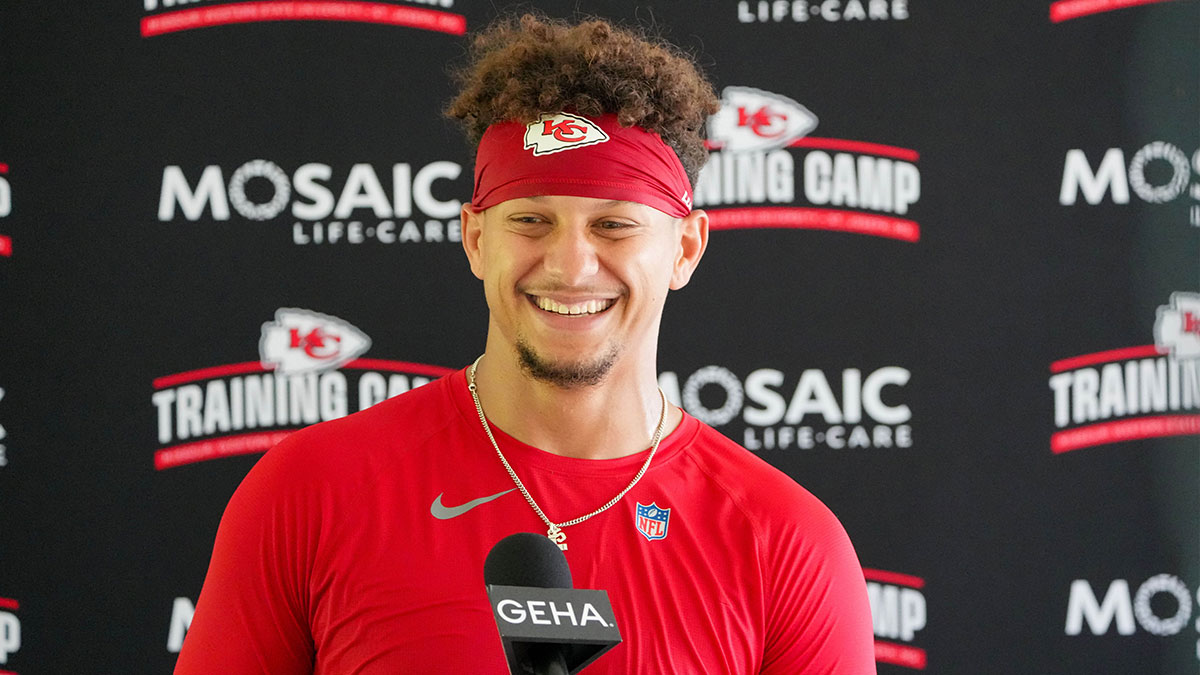
[[[1200,202],[1200,149],[1188,159],[1177,145],[1154,141],[1138,149],[1126,166],[1126,154],[1121,148],[1109,148],[1096,169],[1087,154],[1079,148],[1067,150],[1062,165],[1062,186],[1058,203],[1074,205],[1082,193],[1084,201],[1096,205],[1108,195],[1114,204],[1128,204],[1129,191],[1147,204],[1166,204],[1184,195]],[[1152,179],[1152,177],[1154,177]],[[1200,227],[1200,204],[1188,208],[1188,220]]]

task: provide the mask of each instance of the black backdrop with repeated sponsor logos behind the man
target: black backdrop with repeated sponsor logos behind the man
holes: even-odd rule
[[[481,351],[499,5],[0,7],[0,673],[169,673],[259,454]],[[841,518],[881,673],[1200,670],[1200,2],[527,6],[716,83],[660,382]]]

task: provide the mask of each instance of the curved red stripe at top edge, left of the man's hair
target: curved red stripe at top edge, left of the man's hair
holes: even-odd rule
[[[450,35],[467,32],[466,17],[438,10],[348,0],[274,0],[268,2],[230,2],[143,17],[142,37],[216,25],[288,20],[385,24]]]

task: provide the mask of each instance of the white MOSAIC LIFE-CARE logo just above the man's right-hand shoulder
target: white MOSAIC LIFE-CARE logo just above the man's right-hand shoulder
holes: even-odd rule
[[[659,386],[689,414],[750,450],[910,448],[912,411],[898,399],[911,377],[900,366],[865,375],[847,368],[833,377],[835,393],[818,369],[796,375],[762,368],[742,378],[709,365],[683,380],[664,371]]]

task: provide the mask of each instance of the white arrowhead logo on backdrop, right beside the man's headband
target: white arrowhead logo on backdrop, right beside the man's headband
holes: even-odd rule
[[[786,96],[726,86],[721,109],[708,118],[708,138],[722,150],[784,148],[817,127],[817,117]]]

